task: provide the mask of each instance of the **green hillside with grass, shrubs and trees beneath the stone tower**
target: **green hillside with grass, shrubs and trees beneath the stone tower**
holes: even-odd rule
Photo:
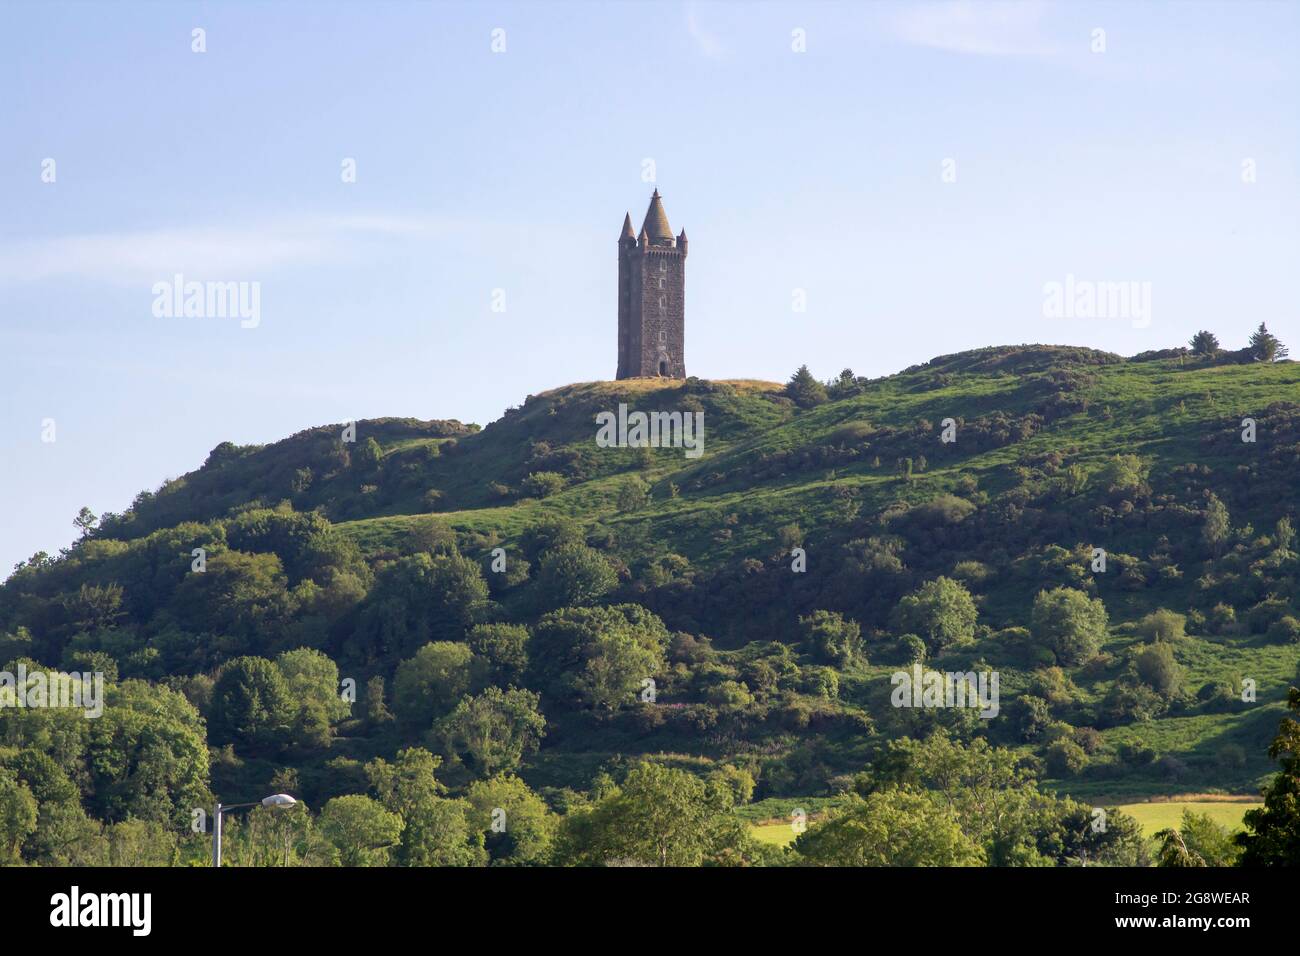
[[[703,412],[703,454],[598,447],[620,402]],[[1254,795],[1275,769],[1300,662],[1295,363],[996,347],[824,390],[588,382],[485,428],[346,428],[220,445],[0,587],[0,663],[192,705],[211,750],[177,813],[290,771],[318,806],[413,744],[452,793],[504,769],[556,813],[642,754],[740,779],[740,803],[833,806],[936,727],[1084,801]],[[280,678],[233,662],[298,648],[317,663],[281,662],[298,696],[260,719],[237,691]],[[997,670],[998,717],[890,706],[915,659]],[[330,665],[350,710],[303,704]],[[467,708],[493,687],[524,696],[494,705],[517,732],[488,754]],[[44,739],[14,719],[0,767]],[[127,814],[129,771],[46,749],[88,813]]]

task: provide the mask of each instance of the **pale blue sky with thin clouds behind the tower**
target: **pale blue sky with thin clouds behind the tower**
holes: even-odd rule
[[[612,377],[645,159],[692,375],[1300,346],[1297,47],[1291,3],[0,3],[0,576],[225,440]],[[155,317],[176,272],[260,325]],[[1066,274],[1149,326],[1045,319]]]

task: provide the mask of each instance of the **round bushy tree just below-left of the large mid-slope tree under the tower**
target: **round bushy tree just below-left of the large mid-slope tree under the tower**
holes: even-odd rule
[[[540,701],[532,691],[499,687],[462,698],[442,722],[446,752],[468,758],[480,777],[515,770],[546,735]]]

